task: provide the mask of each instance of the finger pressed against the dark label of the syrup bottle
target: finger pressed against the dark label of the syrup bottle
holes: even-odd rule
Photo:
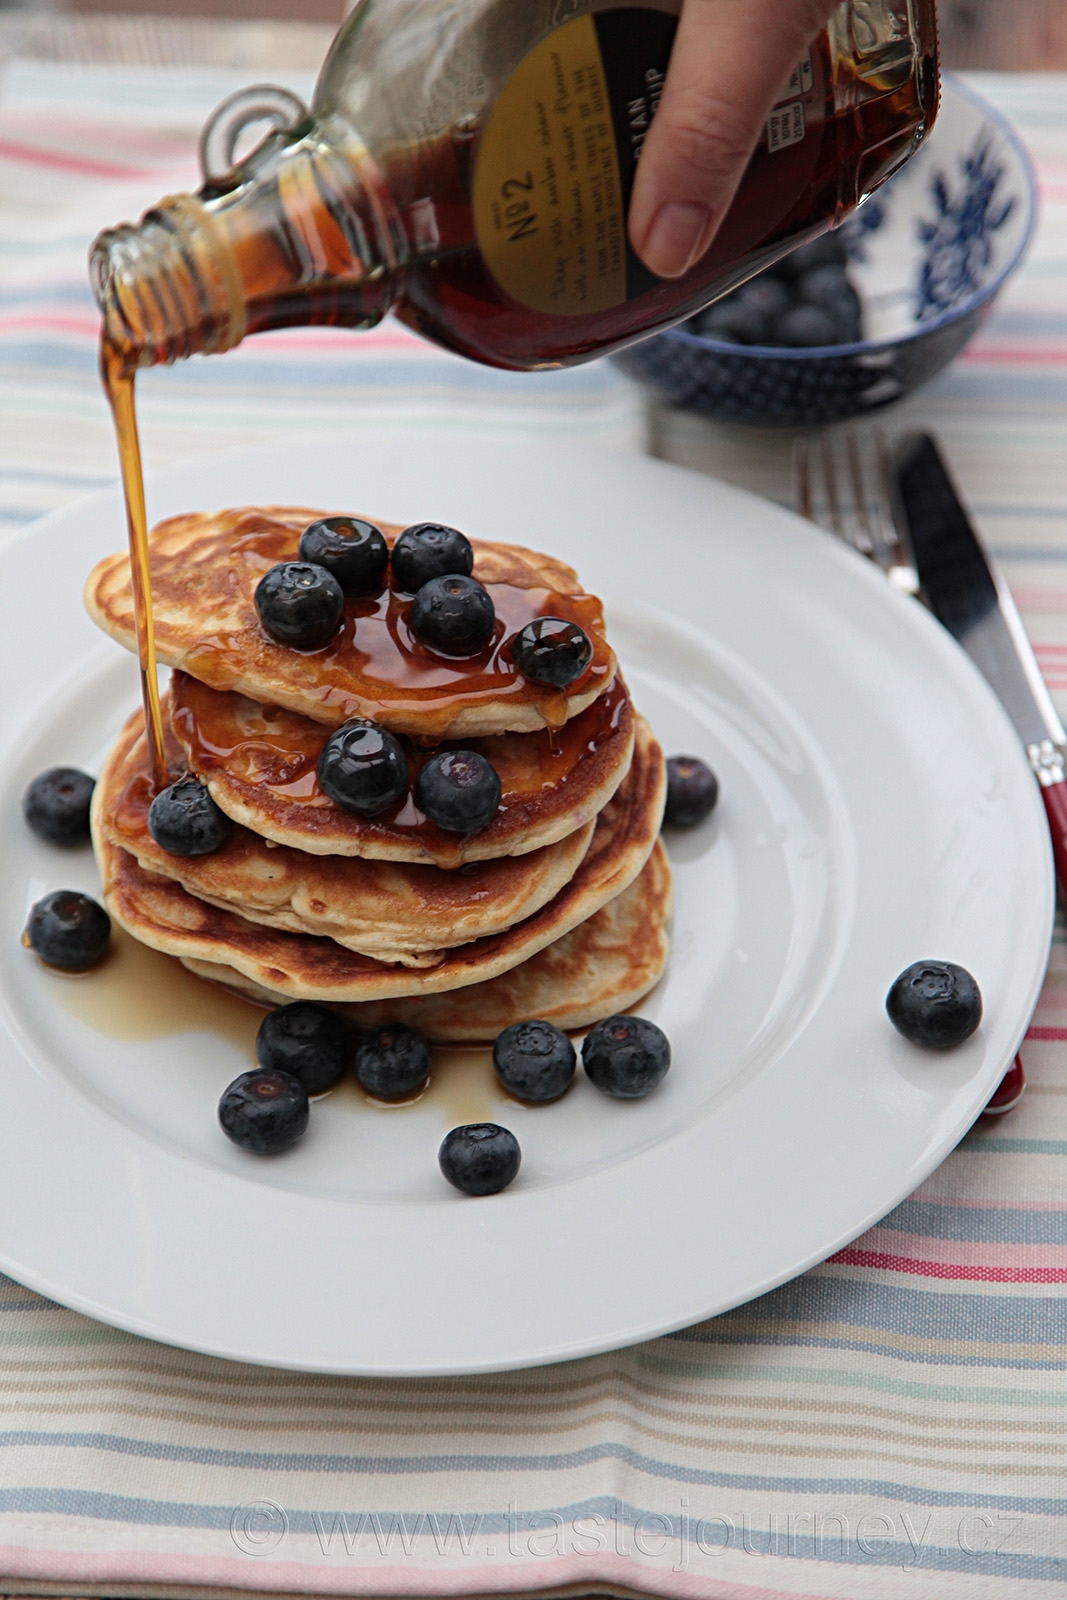
[[[766,114],[835,0],[685,0],[641,149],[630,243],[680,278],[721,222]]]

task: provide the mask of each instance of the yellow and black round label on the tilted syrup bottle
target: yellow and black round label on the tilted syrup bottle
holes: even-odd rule
[[[630,250],[625,214],[677,18],[621,8],[557,27],[490,112],[474,170],[474,222],[512,299],[587,317],[659,280]]]

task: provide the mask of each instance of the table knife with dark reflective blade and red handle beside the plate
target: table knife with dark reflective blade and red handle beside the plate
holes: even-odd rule
[[[891,482],[929,610],[963,645],[1022,739],[1041,787],[1056,878],[1067,896],[1067,734],[1022,618],[929,434],[912,434],[896,446]]]

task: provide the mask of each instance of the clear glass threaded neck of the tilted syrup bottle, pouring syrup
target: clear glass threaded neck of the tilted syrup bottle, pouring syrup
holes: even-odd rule
[[[104,339],[126,370],[230,350],[267,328],[366,328],[389,310],[408,251],[362,144],[317,128],[234,178],[94,242]]]

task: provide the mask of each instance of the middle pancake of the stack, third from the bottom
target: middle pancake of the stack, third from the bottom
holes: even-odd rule
[[[173,856],[149,834],[152,800],[144,715],[128,720],[93,792],[93,830],[146,872],[250,922],[336,939],[379,962],[435,966],[445,950],[533,915],[569,883],[593,822],[558,845],[502,856],[461,872],[440,867],[325,859],[270,846],[245,827],[210,856]]]

